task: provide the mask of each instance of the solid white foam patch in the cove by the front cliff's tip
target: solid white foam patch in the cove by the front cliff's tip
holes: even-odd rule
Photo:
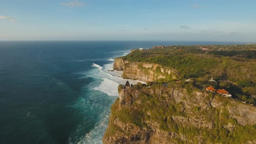
[[[110,79],[103,78],[102,83],[95,87],[95,90],[101,91],[109,96],[117,96],[118,95],[118,83],[114,82]]]

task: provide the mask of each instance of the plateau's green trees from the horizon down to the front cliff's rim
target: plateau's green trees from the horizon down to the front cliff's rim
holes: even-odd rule
[[[207,48],[207,49],[206,49]],[[212,85],[224,88],[233,98],[256,105],[256,44],[164,46],[164,48],[134,50],[122,59],[129,62],[149,62],[176,69],[181,80],[192,79],[197,88]],[[141,66],[144,73],[146,68]],[[155,75],[163,75],[158,67]],[[172,75],[157,83],[174,81]],[[217,84],[208,80],[213,78]],[[190,92],[188,92],[190,93]]]

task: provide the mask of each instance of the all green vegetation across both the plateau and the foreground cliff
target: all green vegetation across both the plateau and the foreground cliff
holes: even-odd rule
[[[140,130],[150,130],[151,124],[154,127],[157,125],[163,133],[175,135],[171,138],[173,143],[237,144],[256,140],[256,124],[242,125],[241,119],[236,119],[240,114],[230,111],[232,107],[241,107],[242,102],[213,92],[204,93],[202,97],[196,95],[196,92],[205,92],[202,91],[205,87],[213,86],[230,92],[232,98],[256,105],[255,44],[164,46],[134,50],[122,59],[171,67],[178,71],[181,78],[174,79],[173,75],[165,75],[160,66],[156,67],[155,76],[165,75],[165,79],[148,82],[151,88],[145,88],[141,83],[134,85],[133,90],[139,90],[139,95],[129,107],[120,107],[117,99],[111,108],[112,125],[107,135],[118,132],[130,134],[129,130],[122,131],[115,125],[114,121],[119,120]],[[152,67],[145,68],[143,65],[138,68],[146,75],[152,70]],[[216,82],[210,82],[211,78]],[[165,82],[168,82],[167,88],[161,84]],[[120,89],[121,86],[118,86],[118,92]],[[180,95],[174,95],[174,90],[179,91]],[[211,103],[213,100],[220,105],[214,107]]]

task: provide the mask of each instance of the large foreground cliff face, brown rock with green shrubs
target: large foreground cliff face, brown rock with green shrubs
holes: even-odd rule
[[[123,89],[104,144],[256,143],[256,107],[210,92],[153,85]]]

